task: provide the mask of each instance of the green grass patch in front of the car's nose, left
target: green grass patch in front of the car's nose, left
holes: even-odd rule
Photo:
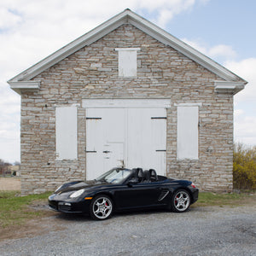
[[[27,219],[43,216],[44,212],[28,207],[34,201],[47,201],[51,192],[20,196],[19,191],[0,191],[0,228],[24,224]]]

